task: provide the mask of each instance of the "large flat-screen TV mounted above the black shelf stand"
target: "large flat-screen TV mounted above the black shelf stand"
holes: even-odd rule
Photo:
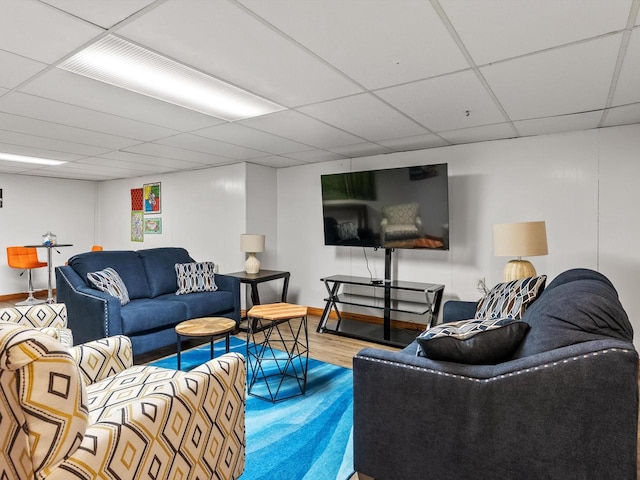
[[[325,245],[449,249],[447,164],[322,175]]]

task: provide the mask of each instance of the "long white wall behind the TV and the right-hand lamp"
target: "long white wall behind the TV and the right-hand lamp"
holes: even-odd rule
[[[322,308],[321,277],[369,276],[363,249],[324,246],[321,174],[447,162],[451,249],[396,250],[395,278],[442,283],[445,298],[477,299],[477,280],[500,282],[508,260],[493,256],[492,225],[545,220],[549,255],[529,259],[537,271],[549,281],[573,267],[607,275],[640,345],[639,139],[640,125],[631,125],[280,169],[278,258],[291,271],[292,300]],[[384,253],[366,249],[366,256],[381,277]]]

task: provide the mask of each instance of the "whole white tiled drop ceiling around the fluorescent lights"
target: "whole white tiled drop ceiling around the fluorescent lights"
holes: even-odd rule
[[[288,167],[640,123],[640,0],[0,0],[0,172]],[[107,34],[271,100],[236,122],[57,68]]]

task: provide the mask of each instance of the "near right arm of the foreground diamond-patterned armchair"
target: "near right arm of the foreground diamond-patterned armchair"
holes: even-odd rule
[[[245,463],[245,380],[244,358],[225,354],[110,409],[47,478],[236,479]]]

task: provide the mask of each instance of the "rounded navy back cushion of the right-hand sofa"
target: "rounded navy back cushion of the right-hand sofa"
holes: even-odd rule
[[[516,358],[590,340],[633,341],[633,328],[615,288],[593,270],[560,274],[522,320],[531,330],[515,352]]]

